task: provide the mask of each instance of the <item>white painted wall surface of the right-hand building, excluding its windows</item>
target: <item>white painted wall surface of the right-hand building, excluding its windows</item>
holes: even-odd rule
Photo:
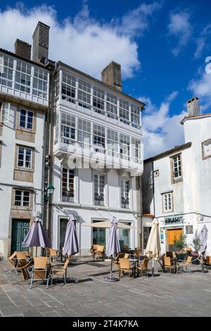
[[[196,230],[200,233],[203,224],[207,225],[208,240],[207,254],[211,254],[211,158],[202,159],[201,143],[211,138],[211,117],[201,116],[198,119],[189,118],[184,122],[185,142],[191,142],[191,147],[175,151],[162,158],[149,161],[144,165],[143,188],[143,210],[146,204],[150,206],[150,212],[158,217],[160,227],[164,227],[165,216],[183,215],[184,230],[186,225],[193,225],[193,235],[187,235],[186,242],[191,246]],[[176,184],[171,183],[170,157],[181,152],[183,181]],[[159,176],[154,176],[154,190],[152,195],[149,182],[153,176],[153,170],[159,171]],[[174,211],[163,213],[162,193],[173,190]],[[155,211],[153,208],[155,203]],[[203,215],[200,220],[199,214]],[[175,226],[174,226],[175,227]],[[171,227],[165,227],[171,228]],[[186,232],[185,232],[186,233]],[[165,252],[165,242],[161,244],[162,252]]]

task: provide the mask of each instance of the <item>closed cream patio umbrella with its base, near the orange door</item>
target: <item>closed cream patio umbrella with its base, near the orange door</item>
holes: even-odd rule
[[[149,256],[153,258],[152,273],[148,275],[158,276],[159,274],[154,273],[154,258],[158,258],[160,256],[160,236],[158,218],[154,218],[153,220],[153,226],[146,245],[146,254],[149,254]]]

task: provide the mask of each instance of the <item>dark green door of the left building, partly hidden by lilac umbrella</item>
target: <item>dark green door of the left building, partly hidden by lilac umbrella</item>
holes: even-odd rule
[[[27,251],[28,247],[22,247],[21,244],[25,239],[30,228],[30,220],[17,220],[12,221],[12,243],[11,254],[14,251]]]

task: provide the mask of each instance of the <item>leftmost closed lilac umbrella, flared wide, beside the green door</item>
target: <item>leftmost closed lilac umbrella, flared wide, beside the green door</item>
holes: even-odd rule
[[[46,235],[44,227],[41,224],[41,219],[39,217],[34,218],[34,223],[30,227],[27,236],[25,237],[23,247],[34,247],[36,246],[36,256],[37,256],[37,247],[51,247],[51,242]]]

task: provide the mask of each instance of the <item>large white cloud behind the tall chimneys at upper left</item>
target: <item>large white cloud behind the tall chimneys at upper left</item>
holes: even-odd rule
[[[51,6],[27,9],[21,4],[0,11],[0,45],[13,51],[16,38],[31,44],[34,28],[40,20],[51,27],[49,58],[63,61],[98,78],[101,70],[113,60],[122,65],[124,78],[132,77],[134,70],[140,68],[138,46],[133,38],[147,29],[148,15],[159,8],[156,3],[140,7],[124,15],[122,21],[101,23],[90,18],[84,2],[82,10],[74,18],[67,17],[59,23]],[[133,23],[134,17],[136,24]]]

